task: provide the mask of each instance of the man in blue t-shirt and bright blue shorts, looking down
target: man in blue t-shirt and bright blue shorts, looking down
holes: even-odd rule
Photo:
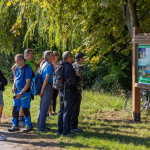
[[[15,56],[15,62],[17,64],[17,67],[14,72],[14,84],[12,88],[12,93],[15,93],[15,95],[13,96],[12,127],[8,129],[8,131],[20,131],[18,119],[19,110],[22,106],[26,125],[23,129],[23,132],[28,132],[32,130],[30,117],[31,92],[28,91],[32,79],[32,70],[31,67],[28,66],[24,74],[26,63],[22,54],[17,54]]]

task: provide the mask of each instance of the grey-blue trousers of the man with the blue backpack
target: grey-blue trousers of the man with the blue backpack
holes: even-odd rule
[[[43,92],[43,95],[41,96],[40,110],[37,122],[38,131],[43,131],[46,127],[46,117],[51,102],[51,96],[52,96],[52,84],[47,84]]]

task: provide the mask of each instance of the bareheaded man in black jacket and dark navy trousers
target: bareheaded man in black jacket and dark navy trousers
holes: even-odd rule
[[[64,52],[62,57],[63,61],[60,64],[64,65],[64,82],[68,81],[65,83],[65,88],[59,92],[60,110],[58,113],[57,135],[66,136],[70,134],[70,119],[75,102],[76,74],[71,65],[73,61],[71,52]]]

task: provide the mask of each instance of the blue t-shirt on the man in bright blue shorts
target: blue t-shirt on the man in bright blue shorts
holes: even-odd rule
[[[24,88],[26,85],[26,79],[32,79],[32,70],[30,66],[26,68],[25,77],[23,78],[24,67],[25,65],[22,68],[17,67],[14,73],[16,88]]]

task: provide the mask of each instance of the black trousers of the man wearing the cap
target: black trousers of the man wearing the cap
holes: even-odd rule
[[[81,105],[82,95],[80,92],[76,92],[75,94],[75,104],[73,106],[73,113],[71,116],[70,128],[75,129],[78,127],[78,117],[80,113],[80,105]]]

